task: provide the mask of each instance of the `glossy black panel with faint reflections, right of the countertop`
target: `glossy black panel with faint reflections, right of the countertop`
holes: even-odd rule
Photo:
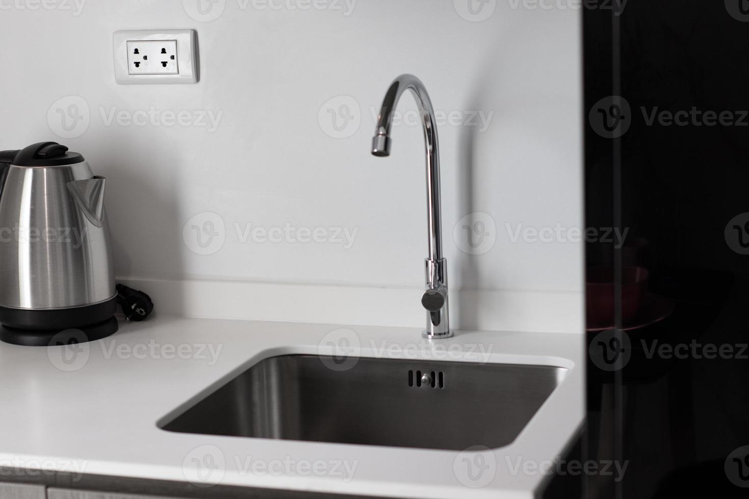
[[[586,224],[627,230],[586,248],[615,291],[607,312],[588,288],[583,456],[628,462],[622,480],[586,476],[589,498],[749,497],[749,10],[730,7],[583,10],[586,115],[608,114],[586,128]],[[633,323],[635,266],[664,301]]]

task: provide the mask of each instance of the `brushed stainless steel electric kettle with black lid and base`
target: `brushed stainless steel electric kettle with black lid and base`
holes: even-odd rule
[[[46,346],[69,329],[89,341],[117,331],[105,183],[56,142],[0,151],[0,340]]]

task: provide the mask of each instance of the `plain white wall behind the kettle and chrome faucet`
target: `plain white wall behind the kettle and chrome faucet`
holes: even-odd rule
[[[482,12],[494,7],[491,16],[470,22],[458,13],[467,12],[466,1],[358,0],[349,11],[351,0],[336,0],[342,10],[225,0],[217,19],[198,22],[189,16],[195,0],[88,0],[78,15],[77,7],[30,10],[34,0],[0,0],[0,148],[58,140],[108,177],[123,278],[417,289],[426,256],[422,132],[396,126],[392,156],[369,154],[372,108],[395,76],[414,73],[439,111],[493,112],[485,131],[451,123],[439,129],[452,287],[500,290],[497,296],[573,293],[577,306],[582,246],[512,242],[506,224],[582,224],[580,11],[489,0]],[[112,31],[149,28],[198,31],[198,84],[115,84]],[[348,138],[326,133],[326,102],[339,96],[354,101]],[[61,132],[56,109],[67,111],[78,98],[88,105],[88,128]],[[342,102],[351,99],[333,101]],[[112,110],[152,106],[220,113],[220,120],[213,131],[106,123]],[[414,109],[410,97],[401,103],[401,111]],[[183,237],[186,222],[202,212],[216,212],[226,227],[225,243],[210,255],[196,254]],[[484,254],[467,254],[453,239],[470,212],[487,213],[496,226]],[[351,248],[240,242],[235,223],[347,227],[357,236]],[[521,301],[544,314],[546,305],[533,300]],[[504,302],[488,306],[512,313]],[[418,299],[407,307],[418,312],[407,322],[422,320]],[[553,329],[577,330],[578,312],[560,315]],[[468,315],[456,313],[457,325],[475,327]]]

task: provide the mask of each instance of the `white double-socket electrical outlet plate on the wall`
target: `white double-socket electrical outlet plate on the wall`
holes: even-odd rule
[[[198,82],[194,29],[115,31],[112,56],[120,85]]]

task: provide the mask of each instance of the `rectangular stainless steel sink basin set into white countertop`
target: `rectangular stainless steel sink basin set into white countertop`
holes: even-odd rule
[[[497,448],[517,438],[567,372],[380,358],[360,358],[340,371],[327,367],[334,361],[314,355],[268,358],[161,427],[341,444]]]

